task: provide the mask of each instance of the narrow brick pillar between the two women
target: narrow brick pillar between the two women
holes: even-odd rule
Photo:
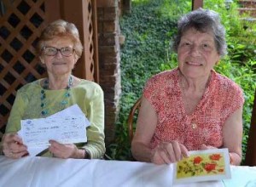
[[[98,0],[97,20],[100,85],[105,99],[105,141],[109,144],[114,138],[121,93],[119,0]]]

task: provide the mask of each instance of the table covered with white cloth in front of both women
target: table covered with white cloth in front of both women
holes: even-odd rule
[[[256,167],[231,167],[232,174],[252,173]],[[139,161],[58,159],[26,156],[18,160],[0,156],[1,187],[236,187],[236,178],[172,185],[172,165]],[[248,176],[248,175],[247,175]],[[245,184],[250,178],[240,181]],[[244,186],[244,185],[241,185]]]

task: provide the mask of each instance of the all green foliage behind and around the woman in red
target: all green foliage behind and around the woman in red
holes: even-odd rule
[[[177,19],[189,11],[190,2],[134,0],[131,14],[120,20],[121,31],[125,35],[125,45],[121,48],[122,97],[119,120],[115,124],[116,139],[107,148],[113,159],[131,158],[127,118],[131,106],[142,95],[145,82],[154,74],[177,66],[177,54],[172,53],[171,41],[177,31]],[[256,30],[248,23],[245,26],[245,22],[239,19],[236,3],[227,10],[224,0],[204,0],[204,8],[218,12],[226,29],[229,55],[215,69],[244,90],[244,154],[256,88]]]

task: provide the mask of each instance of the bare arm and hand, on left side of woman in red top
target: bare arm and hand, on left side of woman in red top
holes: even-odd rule
[[[137,119],[137,129],[131,142],[131,152],[137,161],[148,161],[155,164],[165,164],[179,161],[188,156],[188,150],[173,140],[161,142],[154,150],[150,149],[150,141],[157,125],[157,114],[152,105],[143,97]]]

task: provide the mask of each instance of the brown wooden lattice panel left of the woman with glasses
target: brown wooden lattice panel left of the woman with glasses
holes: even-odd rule
[[[0,128],[7,122],[17,89],[44,77],[35,47],[45,20],[44,0],[0,1]]]

